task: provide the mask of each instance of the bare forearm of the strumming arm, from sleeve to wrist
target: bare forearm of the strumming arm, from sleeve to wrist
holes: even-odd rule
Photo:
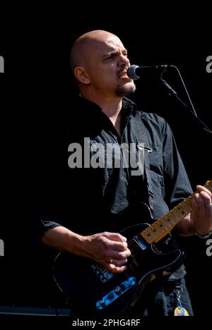
[[[42,242],[61,252],[70,252],[83,256],[84,237],[68,228],[58,226],[48,229],[42,236]]]

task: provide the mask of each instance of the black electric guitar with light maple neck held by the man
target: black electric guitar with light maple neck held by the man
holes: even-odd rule
[[[204,186],[212,192],[212,180]],[[120,231],[131,250],[126,271],[120,274],[91,259],[59,253],[53,264],[54,281],[68,298],[70,307],[81,315],[85,312],[95,317],[118,316],[134,305],[155,276],[177,269],[184,253],[178,248],[168,250],[163,242],[191,212],[193,195],[151,225],[136,224]]]

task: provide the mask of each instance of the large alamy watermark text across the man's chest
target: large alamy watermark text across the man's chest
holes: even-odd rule
[[[84,138],[80,143],[71,143],[68,164],[71,169],[123,168],[131,169],[132,176],[141,176],[144,169],[143,143],[97,143]]]

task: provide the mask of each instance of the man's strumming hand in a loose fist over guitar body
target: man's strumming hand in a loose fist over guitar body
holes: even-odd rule
[[[82,249],[85,257],[90,257],[113,273],[124,271],[127,258],[131,255],[124,236],[106,231],[84,236]]]

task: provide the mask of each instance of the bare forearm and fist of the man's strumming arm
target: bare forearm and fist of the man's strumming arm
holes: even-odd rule
[[[131,255],[126,238],[119,233],[106,231],[81,236],[68,228],[58,226],[49,228],[42,236],[42,242],[61,252],[93,259],[112,272],[124,271],[127,258]]]

